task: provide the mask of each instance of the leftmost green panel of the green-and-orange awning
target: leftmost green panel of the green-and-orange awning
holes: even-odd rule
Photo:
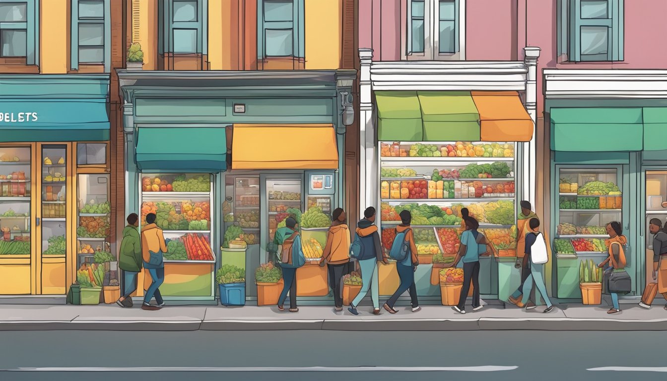
[[[378,140],[422,141],[422,111],[417,91],[376,91]]]

